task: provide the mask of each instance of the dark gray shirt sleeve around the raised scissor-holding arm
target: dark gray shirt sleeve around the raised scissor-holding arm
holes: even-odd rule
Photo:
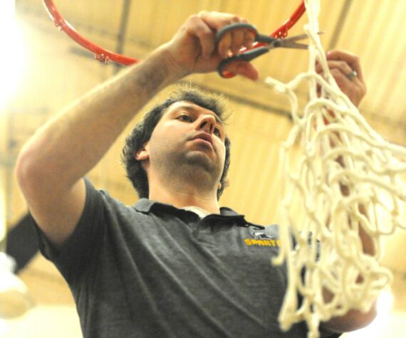
[[[85,188],[83,213],[71,237],[61,248],[55,248],[31,216],[41,253],[56,265],[68,283],[75,282],[90,262],[97,257],[105,232],[105,223],[100,221],[104,210],[103,193],[96,190],[88,179],[85,179]]]

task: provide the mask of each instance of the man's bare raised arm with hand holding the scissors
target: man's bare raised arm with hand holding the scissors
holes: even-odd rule
[[[123,132],[132,117],[165,86],[190,73],[211,72],[229,51],[251,46],[252,33],[215,33],[239,16],[202,12],[191,16],[174,38],[141,63],[100,85],[53,118],[21,150],[16,175],[28,208],[54,245],[73,233],[85,203],[83,176]],[[230,69],[255,79],[249,63]]]

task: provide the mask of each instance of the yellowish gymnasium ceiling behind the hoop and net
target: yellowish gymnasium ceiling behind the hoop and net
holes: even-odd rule
[[[55,0],[63,16],[90,40],[127,56],[143,58],[168,41],[190,14],[202,10],[239,14],[259,31],[271,32],[298,6],[298,0]],[[19,12],[46,19],[41,0],[16,0]],[[83,5],[85,4],[85,6]],[[320,28],[326,50],[340,48],[358,54],[363,64],[368,97],[363,115],[384,137],[406,144],[406,1],[321,1]],[[306,14],[291,30],[301,33]],[[50,23],[51,26],[51,23]],[[56,47],[57,48],[57,47]],[[71,53],[90,53],[78,46]],[[261,78],[271,75],[283,82],[306,70],[302,51],[273,51],[254,61]],[[261,81],[243,78],[232,82],[217,75],[198,75],[194,82],[269,111],[287,113],[286,100],[271,94]]]

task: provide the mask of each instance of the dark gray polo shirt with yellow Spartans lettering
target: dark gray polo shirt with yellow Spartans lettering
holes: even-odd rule
[[[86,181],[63,248],[38,233],[71,287],[84,337],[307,336],[304,323],[279,329],[286,268],[271,265],[283,245],[275,225],[230,208],[200,218],[147,199],[125,206]]]

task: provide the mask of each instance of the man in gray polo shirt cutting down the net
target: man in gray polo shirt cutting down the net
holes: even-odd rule
[[[285,268],[269,263],[281,245],[277,227],[219,208],[229,141],[216,100],[180,93],[127,139],[127,174],[148,199],[127,207],[83,179],[159,90],[251,46],[254,36],[243,29],[214,44],[215,33],[236,22],[246,21],[191,16],[169,43],[58,115],[21,151],[16,174],[41,250],[68,281],[85,337],[306,337],[303,323],[289,332],[277,323],[286,288]],[[365,95],[358,59],[339,51],[328,59],[358,105]],[[250,63],[229,70],[258,78]],[[358,78],[349,80],[352,70]],[[350,312],[321,332],[338,337],[333,332],[373,316]]]

